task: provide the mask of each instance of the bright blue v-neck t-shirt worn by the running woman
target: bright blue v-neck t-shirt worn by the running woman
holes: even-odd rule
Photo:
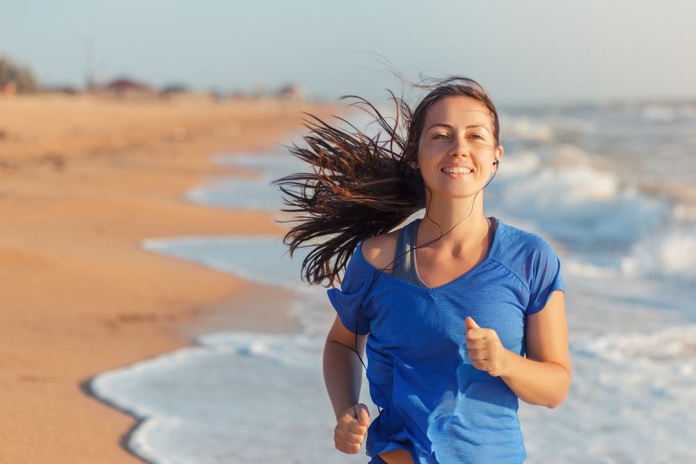
[[[525,317],[563,289],[551,246],[499,221],[487,257],[468,273],[435,289],[379,273],[358,312],[376,272],[358,246],[342,290],[329,290],[343,325],[370,334],[367,380],[382,411],[367,432],[367,455],[406,449],[415,463],[522,463],[517,396],[473,367],[464,319],[524,355]]]

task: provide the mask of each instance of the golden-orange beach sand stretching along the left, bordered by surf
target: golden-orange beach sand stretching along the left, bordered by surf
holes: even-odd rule
[[[90,378],[216,329],[296,330],[283,295],[139,243],[282,234],[267,214],[181,198],[204,175],[233,173],[210,154],[283,141],[300,111],[339,109],[0,97],[0,463],[140,463],[123,444],[135,419],[90,397]]]

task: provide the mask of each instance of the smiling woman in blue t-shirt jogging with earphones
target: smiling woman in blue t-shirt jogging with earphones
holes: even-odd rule
[[[315,172],[280,180],[304,213],[291,250],[314,241],[306,278],[333,283],[352,255],[329,290],[335,446],[354,454],[367,435],[371,463],[521,463],[518,398],[555,408],[571,378],[560,264],[543,239],[483,214],[503,147],[479,84],[448,79],[413,113],[397,107],[405,140],[400,116],[392,127],[374,111],[386,141],[319,121],[292,150]],[[372,424],[358,403],[365,347]]]

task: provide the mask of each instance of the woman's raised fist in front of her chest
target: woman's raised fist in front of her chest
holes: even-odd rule
[[[466,349],[469,351],[469,359],[473,360],[473,367],[487,371],[493,377],[503,375],[505,358],[509,351],[500,343],[496,331],[479,327],[470,317],[464,320],[464,325]]]

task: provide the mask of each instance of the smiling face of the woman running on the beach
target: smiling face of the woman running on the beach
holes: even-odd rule
[[[470,97],[444,97],[425,117],[413,167],[433,195],[470,198],[484,188],[502,156],[489,109]]]

